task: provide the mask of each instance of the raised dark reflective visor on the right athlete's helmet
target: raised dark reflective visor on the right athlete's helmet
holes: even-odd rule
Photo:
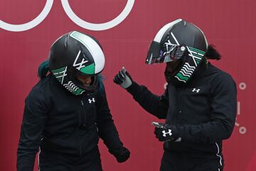
[[[167,45],[153,42],[146,57],[146,64],[172,62],[188,55],[186,45]]]

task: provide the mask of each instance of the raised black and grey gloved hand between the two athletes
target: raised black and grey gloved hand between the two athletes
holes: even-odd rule
[[[131,75],[129,75],[124,67],[122,67],[122,70],[120,70],[117,75],[114,76],[114,83],[119,84],[124,89],[127,89],[130,85],[132,85],[132,82]]]

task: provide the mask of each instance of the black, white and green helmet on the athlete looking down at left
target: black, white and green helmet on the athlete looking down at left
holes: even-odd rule
[[[50,48],[49,69],[69,92],[79,95],[97,89],[97,75],[105,66],[105,56],[100,43],[91,35],[72,31],[55,40]],[[78,75],[91,77],[84,85]]]

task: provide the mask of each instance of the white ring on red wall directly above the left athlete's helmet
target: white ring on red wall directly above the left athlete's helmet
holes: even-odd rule
[[[123,11],[119,13],[119,15],[116,18],[112,19],[112,21],[108,21],[106,23],[89,23],[87,21],[84,21],[81,18],[79,18],[70,8],[68,0],[61,0],[61,4],[63,5],[63,9],[65,13],[67,13],[68,17],[78,26],[86,28],[91,31],[104,31],[113,28],[114,26],[117,26],[119,23],[124,21],[124,19],[128,16],[129,12],[132,11],[134,1],[135,0],[127,0],[127,4],[125,5]]]

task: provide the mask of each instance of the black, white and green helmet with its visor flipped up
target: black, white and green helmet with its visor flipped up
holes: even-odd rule
[[[193,23],[177,19],[166,24],[149,46],[146,64],[166,62],[166,81],[186,84],[203,61],[208,43],[200,28]],[[176,62],[174,70],[167,66]]]

